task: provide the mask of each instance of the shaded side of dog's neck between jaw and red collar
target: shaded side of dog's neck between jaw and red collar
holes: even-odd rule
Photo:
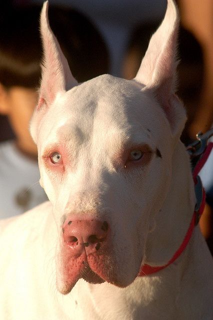
[[[159,266],[170,260],[187,232],[195,203],[189,157],[179,141],[172,157],[170,187],[162,208],[154,217],[155,228],[148,233],[143,262]]]

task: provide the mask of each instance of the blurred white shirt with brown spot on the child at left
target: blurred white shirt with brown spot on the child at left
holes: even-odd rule
[[[0,218],[23,213],[47,199],[39,177],[35,160],[20,153],[13,141],[0,143]]]

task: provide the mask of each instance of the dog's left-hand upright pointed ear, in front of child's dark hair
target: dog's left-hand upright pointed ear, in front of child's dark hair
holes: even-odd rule
[[[38,103],[30,123],[30,133],[35,142],[37,123],[46,108],[54,101],[56,94],[77,85],[77,81],[69,69],[68,62],[61,51],[59,43],[49,26],[48,1],[43,3],[41,10],[40,33],[43,45],[41,83]]]

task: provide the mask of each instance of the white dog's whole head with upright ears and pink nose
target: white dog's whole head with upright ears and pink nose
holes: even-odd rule
[[[173,95],[177,22],[175,6],[168,4],[134,80],[101,75],[82,84],[72,77],[49,29],[44,4],[45,68],[31,134],[58,227],[62,293],[80,277],[124,287],[145,256],[185,120]]]

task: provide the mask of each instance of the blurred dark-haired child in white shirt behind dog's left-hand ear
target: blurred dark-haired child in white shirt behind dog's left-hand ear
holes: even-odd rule
[[[36,5],[1,12],[0,113],[8,117],[15,137],[0,143],[0,218],[46,199],[38,182],[37,148],[28,131],[40,78],[39,13]],[[49,20],[78,81],[108,72],[105,44],[86,17],[50,6]]]

